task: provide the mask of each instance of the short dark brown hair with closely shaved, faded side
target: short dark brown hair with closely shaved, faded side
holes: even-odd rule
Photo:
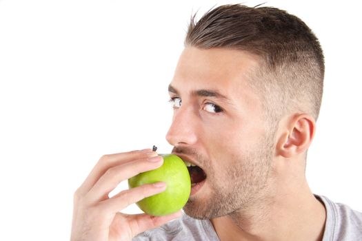
[[[318,39],[298,17],[269,7],[230,4],[191,17],[185,47],[228,48],[254,54],[258,70],[250,78],[269,117],[289,111],[318,118],[323,94],[324,57]],[[277,107],[277,108],[276,108]]]

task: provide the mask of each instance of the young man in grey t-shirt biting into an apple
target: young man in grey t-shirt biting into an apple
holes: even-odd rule
[[[305,180],[323,75],[318,39],[283,10],[227,5],[192,18],[166,138],[206,178],[193,180],[182,218],[125,215],[165,185],[108,193],[162,160],[150,149],[103,156],[74,195],[72,240],[361,239],[362,213]]]

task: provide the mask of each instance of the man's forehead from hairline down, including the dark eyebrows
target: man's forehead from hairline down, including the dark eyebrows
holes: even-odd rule
[[[254,56],[239,50],[188,47],[180,56],[168,90],[180,96],[208,96],[235,103],[254,95],[248,78],[256,65]]]

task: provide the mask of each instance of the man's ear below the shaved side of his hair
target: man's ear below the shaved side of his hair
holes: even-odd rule
[[[276,144],[276,154],[291,158],[304,153],[312,143],[316,123],[308,114],[296,114],[286,123]]]

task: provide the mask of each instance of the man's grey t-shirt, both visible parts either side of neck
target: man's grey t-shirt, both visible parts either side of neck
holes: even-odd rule
[[[316,195],[315,195],[316,196]],[[323,241],[362,240],[362,213],[350,207],[316,196],[327,210]],[[210,220],[197,220],[183,214],[182,218],[162,227],[140,233],[133,241],[219,241]]]

